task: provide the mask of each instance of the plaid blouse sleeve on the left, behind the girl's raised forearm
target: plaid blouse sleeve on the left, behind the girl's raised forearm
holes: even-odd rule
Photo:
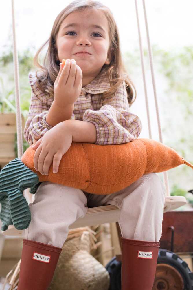
[[[24,128],[24,138],[32,145],[38,141],[49,129],[53,128],[46,122],[46,116],[54,100],[47,92],[41,92],[36,85],[36,77],[29,73],[32,88],[29,113]],[[75,119],[74,114],[71,119]]]

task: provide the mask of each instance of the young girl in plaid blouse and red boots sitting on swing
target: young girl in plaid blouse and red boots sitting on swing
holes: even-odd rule
[[[41,66],[37,57],[47,43]],[[47,175],[53,162],[57,173],[72,141],[109,145],[137,139],[141,121],[130,112],[132,82],[109,8],[98,1],[70,3],[34,63],[41,70],[29,73],[32,97],[24,136],[35,144],[36,170]],[[155,173],[108,195],[42,182],[29,205],[18,289],[47,289],[69,226],[89,207],[108,204],[120,209],[122,290],[152,289],[164,207],[163,183]]]

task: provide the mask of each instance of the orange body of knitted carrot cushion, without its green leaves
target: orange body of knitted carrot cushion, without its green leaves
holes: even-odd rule
[[[37,173],[40,182],[50,181],[95,194],[119,191],[144,174],[166,171],[180,164],[193,168],[174,149],[143,138],[117,145],[72,142],[60,161],[58,172],[53,173],[52,163],[48,175],[35,170],[34,154],[30,146],[21,161]]]

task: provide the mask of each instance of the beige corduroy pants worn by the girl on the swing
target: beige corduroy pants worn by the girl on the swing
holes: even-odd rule
[[[143,175],[112,194],[98,195],[52,182],[42,182],[29,204],[31,222],[25,239],[62,248],[69,225],[90,207],[113,204],[120,209],[123,238],[159,242],[162,233],[164,185],[156,173]]]

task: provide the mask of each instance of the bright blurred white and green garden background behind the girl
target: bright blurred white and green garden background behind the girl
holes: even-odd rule
[[[24,123],[27,120],[31,97],[28,74],[36,70],[33,57],[38,48],[49,38],[59,12],[70,2],[62,0],[15,1],[20,102]],[[135,1],[121,0],[119,4],[110,0],[101,2],[110,8],[115,17],[120,33],[123,59],[137,90],[137,98],[131,106],[131,111],[139,116],[143,124],[139,138],[149,138]],[[144,46],[152,139],[159,141],[142,1],[138,1],[138,9]],[[192,10],[193,2],[190,0],[146,1],[163,143],[172,147],[191,163],[193,163]],[[11,1],[4,1],[0,10],[0,115],[15,113],[16,107],[11,12]],[[10,160],[17,157],[16,135],[13,143],[14,156]],[[24,151],[27,147],[27,142],[23,140]],[[0,159],[1,168],[9,161],[3,163]],[[163,180],[163,174],[157,174]],[[168,171],[168,178],[170,195],[185,196],[189,206],[192,207],[193,195],[188,193],[188,190],[193,189],[192,169],[185,165],[178,166]],[[181,210],[185,208],[182,207]]]

